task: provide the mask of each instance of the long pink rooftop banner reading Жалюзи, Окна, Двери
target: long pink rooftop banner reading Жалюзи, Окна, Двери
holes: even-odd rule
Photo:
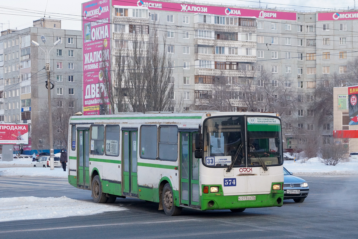
[[[145,0],[112,0],[113,5],[118,6],[136,6],[145,7],[153,10],[165,10],[165,11],[181,11],[188,13],[208,13],[223,16],[247,16],[267,18],[267,19],[281,19],[281,20],[292,20],[296,21],[296,13],[287,11],[275,11],[275,10],[255,10],[255,9],[244,9],[227,6],[208,6],[198,5],[189,3],[172,3],[172,2],[161,2],[161,1],[145,1]]]

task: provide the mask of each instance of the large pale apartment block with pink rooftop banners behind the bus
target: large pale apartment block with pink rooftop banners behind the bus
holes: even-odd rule
[[[277,100],[282,90],[256,94],[255,107],[249,109],[243,101],[245,92],[240,92],[248,79],[257,92],[267,85],[284,87],[281,97],[292,103],[280,107],[287,148],[301,148],[305,142],[297,132],[304,131],[319,132],[323,143],[330,142],[333,110],[322,106],[318,89],[346,83],[348,64],[357,56],[358,11],[302,13],[165,0],[90,1],[82,8],[84,23],[107,25],[113,48],[116,41],[130,42],[138,30],[148,38],[151,26],[159,26],[173,67],[170,83],[175,85],[176,99],[183,99],[180,111],[212,99],[218,81],[234,91],[229,95],[232,110],[272,110],[264,101]],[[87,29],[88,36],[92,32]]]

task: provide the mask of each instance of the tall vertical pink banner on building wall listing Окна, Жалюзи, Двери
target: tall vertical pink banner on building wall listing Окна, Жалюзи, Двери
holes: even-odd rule
[[[100,105],[108,104],[103,83],[110,77],[109,2],[95,0],[82,4],[83,115],[98,115]]]

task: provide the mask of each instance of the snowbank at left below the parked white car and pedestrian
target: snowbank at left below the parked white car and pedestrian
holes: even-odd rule
[[[0,168],[0,177],[46,177],[46,178],[67,178],[68,172],[62,168]]]

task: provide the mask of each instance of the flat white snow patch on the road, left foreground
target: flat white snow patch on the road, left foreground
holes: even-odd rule
[[[63,197],[3,197],[0,198],[0,221],[64,218],[106,211],[126,210],[118,204],[96,204]]]

